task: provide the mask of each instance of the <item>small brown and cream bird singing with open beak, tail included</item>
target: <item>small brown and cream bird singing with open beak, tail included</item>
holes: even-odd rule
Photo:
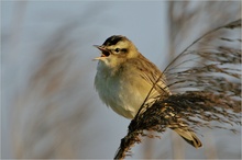
[[[101,56],[95,58],[99,60],[95,77],[96,90],[102,102],[119,115],[132,119],[142,105],[151,106],[164,95],[172,95],[165,76],[157,81],[162,75],[160,69],[125,36],[113,35],[95,47],[101,50]],[[195,133],[187,127],[169,128],[195,148],[201,147]]]

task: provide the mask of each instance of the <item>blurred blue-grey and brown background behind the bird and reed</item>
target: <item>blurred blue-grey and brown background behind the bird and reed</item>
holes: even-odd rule
[[[163,70],[240,13],[240,1],[1,1],[1,158],[113,158],[130,121],[95,91],[92,45],[125,35]],[[132,158],[241,158],[241,133],[202,128],[198,136],[201,149],[167,130],[143,139]]]

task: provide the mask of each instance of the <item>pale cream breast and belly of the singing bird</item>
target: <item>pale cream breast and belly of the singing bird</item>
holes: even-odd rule
[[[150,87],[135,73],[98,68],[95,85],[100,99],[118,114],[133,118],[147,95]]]

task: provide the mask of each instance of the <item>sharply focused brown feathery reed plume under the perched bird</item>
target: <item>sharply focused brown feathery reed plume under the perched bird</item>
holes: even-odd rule
[[[114,159],[124,159],[145,130],[163,133],[170,124],[184,127],[180,121],[193,130],[228,129],[211,122],[241,125],[241,37],[233,32],[241,32],[241,20],[208,32],[172,61],[164,75],[174,94],[138,113]]]

